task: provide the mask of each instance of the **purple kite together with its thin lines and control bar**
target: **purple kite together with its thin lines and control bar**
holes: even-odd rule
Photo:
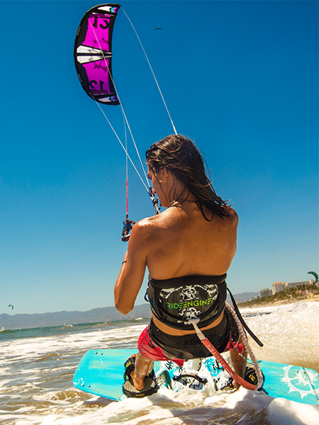
[[[79,81],[81,82],[84,91],[86,91],[86,94],[88,94],[96,102],[97,106],[99,106],[100,111],[103,113],[104,118],[106,118],[108,125],[110,125],[111,130],[113,130],[114,135],[116,135],[116,138],[118,139],[118,142],[120,143],[126,155],[126,215],[125,221],[123,222],[124,227],[122,233],[122,240],[128,240],[128,232],[130,231],[130,229],[132,229],[132,225],[134,224],[132,220],[128,220],[128,159],[130,160],[130,163],[133,165],[133,168],[140,177],[142,184],[145,186],[150,198],[152,199],[152,203],[155,207],[155,213],[159,213],[160,207],[158,206],[158,200],[152,193],[152,188],[150,188],[148,184],[145,167],[142,163],[138,147],[135,143],[133,133],[130,129],[128,119],[126,117],[123,105],[120,101],[118,91],[116,90],[116,86],[114,84],[111,72],[111,40],[113,33],[113,25],[119,8],[121,8],[121,5],[119,4],[101,4],[100,6],[95,6],[94,8],[91,8],[85,13],[77,30],[77,37],[75,38],[74,42],[74,62],[75,67],[77,69]],[[126,18],[128,18],[128,15],[127,13],[125,13],[124,10],[123,13],[125,14]],[[169,115],[169,120],[172,123],[172,127],[175,134],[177,135],[177,130],[174,126],[172,117],[169,114],[167,104],[164,100],[164,96],[155,77],[155,73],[150,64],[150,60],[148,59],[147,54],[145,52],[145,48],[143,47],[140,37],[138,36],[138,33],[135,30],[135,27],[133,26],[133,23],[130,21],[130,18],[128,18],[128,21],[130,23],[130,26],[132,26],[134,33],[138,38],[138,41],[140,42],[142,51],[144,52],[147,63],[155,79],[157,89],[159,90],[159,94],[162,97],[162,101],[166,108],[167,114]],[[118,134],[113,128],[113,125],[111,125],[110,120],[108,120],[106,113],[101,108],[100,103],[103,103],[104,105],[108,104],[121,106],[121,112],[123,115],[125,128],[125,146],[123,145],[123,142],[121,142],[120,137],[118,137]],[[136,168],[133,160],[128,154],[126,125],[128,126],[130,137],[132,137],[135,151],[138,154],[138,159],[144,172],[146,184],[145,181],[142,179],[142,176],[140,175],[138,169]]]

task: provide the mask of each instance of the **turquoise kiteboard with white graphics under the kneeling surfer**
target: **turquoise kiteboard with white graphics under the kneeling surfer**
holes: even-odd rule
[[[124,362],[132,353],[132,349],[87,351],[74,373],[74,387],[107,399],[124,399]],[[315,370],[272,361],[259,361],[259,367],[264,376],[261,391],[265,394],[305,404],[319,404],[319,375]],[[179,391],[189,387],[201,391],[209,385],[216,391],[233,389],[233,379],[213,357],[186,361],[182,368],[172,361],[158,361],[154,370],[159,388]]]

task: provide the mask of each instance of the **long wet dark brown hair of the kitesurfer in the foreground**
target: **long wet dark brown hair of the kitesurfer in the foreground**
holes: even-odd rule
[[[227,202],[216,195],[206,176],[203,157],[191,140],[181,135],[170,135],[154,143],[145,155],[147,165],[155,174],[160,169],[168,169],[184,183],[186,190],[195,196],[206,220],[211,221],[214,215],[228,217]],[[211,211],[211,218],[206,217],[203,207]]]

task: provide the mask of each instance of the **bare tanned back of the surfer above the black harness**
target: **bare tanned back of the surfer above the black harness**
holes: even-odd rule
[[[207,212],[207,217],[209,216]],[[194,202],[168,208],[142,220],[149,227],[147,268],[155,279],[194,274],[219,276],[230,267],[236,251],[238,217],[233,208],[228,217],[203,217]]]

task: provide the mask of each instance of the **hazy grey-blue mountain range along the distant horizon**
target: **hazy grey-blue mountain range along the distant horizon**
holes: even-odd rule
[[[234,295],[236,302],[245,302],[259,293],[242,293]],[[228,300],[230,302],[230,300]],[[231,305],[231,302],[230,302]],[[111,322],[113,320],[130,320],[151,317],[150,305],[136,305],[128,314],[121,314],[115,307],[94,308],[87,312],[53,312],[42,314],[0,314],[0,330],[30,329],[35,327],[63,326],[65,324]]]

